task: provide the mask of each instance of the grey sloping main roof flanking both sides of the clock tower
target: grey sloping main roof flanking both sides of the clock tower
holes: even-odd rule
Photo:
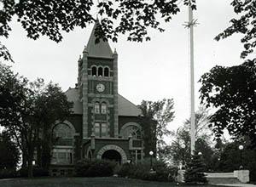
[[[66,93],[67,100],[73,102],[73,113],[83,114],[82,103],[79,100],[79,89],[69,88]],[[118,108],[119,116],[139,116],[142,111],[137,108],[137,105],[131,103],[131,101],[125,99],[123,96],[118,95]]]

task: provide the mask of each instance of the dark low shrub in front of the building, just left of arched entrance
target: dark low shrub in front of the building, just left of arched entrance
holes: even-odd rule
[[[116,162],[104,160],[83,160],[75,167],[76,176],[79,177],[109,177],[113,175]]]

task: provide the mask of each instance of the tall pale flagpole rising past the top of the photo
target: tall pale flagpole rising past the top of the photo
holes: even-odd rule
[[[190,137],[191,137],[191,155],[195,150],[195,75],[194,75],[194,21],[193,10],[189,1],[189,41],[190,41]]]

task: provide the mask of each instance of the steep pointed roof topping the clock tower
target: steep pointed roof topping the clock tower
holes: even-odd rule
[[[94,32],[96,31],[96,27],[99,25],[99,21],[96,20],[96,23],[90,33],[89,41],[87,43],[88,56],[99,58],[113,58],[113,52],[108,42],[104,42],[102,39],[100,39],[100,42],[96,43],[96,37]]]

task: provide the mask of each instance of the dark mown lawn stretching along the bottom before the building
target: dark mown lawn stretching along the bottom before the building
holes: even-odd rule
[[[0,179],[1,187],[170,187],[174,183],[161,183],[131,178],[10,178]],[[184,186],[184,185],[183,185]],[[185,185],[188,186],[189,185]],[[212,185],[200,185],[201,187]],[[215,185],[216,186],[216,185]],[[195,187],[195,185],[193,186]]]

